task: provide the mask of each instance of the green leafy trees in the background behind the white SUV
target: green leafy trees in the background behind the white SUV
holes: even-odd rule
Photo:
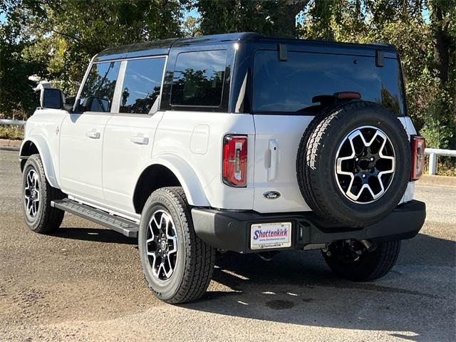
[[[429,146],[456,149],[456,0],[4,0],[0,9],[0,114],[33,111],[29,76],[75,95],[90,58],[108,46],[256,31],[392,43],[415,127]],[[200,16],[183,21],[192,9]],[[397,110],[388,95],[382,101]]]

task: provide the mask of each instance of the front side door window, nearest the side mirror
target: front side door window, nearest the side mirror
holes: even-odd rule
[[[93,64],[79,100],[80,110],[110,111],[119,67],[120,62]]]

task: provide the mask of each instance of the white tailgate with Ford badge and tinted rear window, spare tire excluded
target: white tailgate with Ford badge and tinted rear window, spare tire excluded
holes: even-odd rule
[[[388,53],[383,67],[375,66],[375,51],[353,54],[306,51],[288,47],[279,61],[277,50],[254,53],[252,112],[255,123],[254,210],[310,210],[296,178],[296,155],[301,137],[321,110],[316,95],[356,91],[363,100],[382,103],[403,115],[402,80],[398,61]],[[270,195],[279,192],[280,196]],[[274,199],[271,199],[274,197]]]

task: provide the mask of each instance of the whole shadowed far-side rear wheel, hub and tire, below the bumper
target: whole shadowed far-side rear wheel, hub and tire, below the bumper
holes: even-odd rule
[[[328,266],[345,279],[372,281],[381,278],[398,260],[400,240],[380,242],[372,252],[356,240],[333,242],[323,257]]]

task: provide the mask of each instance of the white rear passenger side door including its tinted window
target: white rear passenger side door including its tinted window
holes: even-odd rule
[[[150,162],[162,119],[157,110],[165,63],[165,56],[155,56],[123,61],[120,67],[119,100],[103,141],[103,192],[105,204],[126,214],[135,213],[135,185]]]

